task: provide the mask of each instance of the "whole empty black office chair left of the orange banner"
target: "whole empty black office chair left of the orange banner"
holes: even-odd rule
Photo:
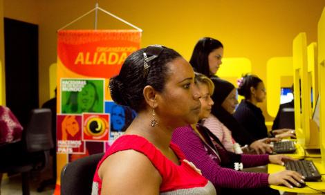
[[[7,147],[10,147],[8,145]],[[47,167],[49,151],[53,148],[50,109],[33,109],[20,142],[12,145],[12,155],[6,157],[0,172],[21,173],[23,194],[30,194],[28,174]]]

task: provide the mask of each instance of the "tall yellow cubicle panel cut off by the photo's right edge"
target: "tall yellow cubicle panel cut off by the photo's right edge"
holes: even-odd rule
[[[325,8],[323,9],[322,16],[318,21],[318,89],[319,97],[321,97],[319,104],[319,142],[322,165],[325,169]],[[323,172],[324,174],[324,172]]]

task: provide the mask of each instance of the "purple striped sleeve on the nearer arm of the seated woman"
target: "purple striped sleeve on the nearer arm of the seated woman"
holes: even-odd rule
[[[221,167],[219,159],[207,152],[205,145],[194,133],[192,127],[177,128],[171,141],[180,147],[187,160],[201,169],[203,176],[216,187],[255,188],[268,186],[268,174],[241,172]]]

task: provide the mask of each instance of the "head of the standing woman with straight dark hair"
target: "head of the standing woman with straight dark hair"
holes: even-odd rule
[[[196,43],[189,64],[197,73],[207,77],[216,76],[222,57],[223,44],[216,39],[203,37]]]

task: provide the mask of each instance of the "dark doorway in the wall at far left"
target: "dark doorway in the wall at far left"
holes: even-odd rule
[[[6,104],[26,127],[38,108],[38,26],[4,18]]]

